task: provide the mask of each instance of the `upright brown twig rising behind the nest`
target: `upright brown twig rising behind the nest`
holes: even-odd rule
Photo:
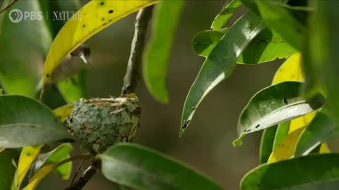
[[[141,9],[136,16],[134,25],[134,36],[131,45],[131,54],[127,64],[126,75],[124,77],[124,86],[121,94],[130,94],[136,90],[136,81],[140,78],[141,62],[143,50],[145,49],[146,34],[148,23],[152,18],[153,6]]]

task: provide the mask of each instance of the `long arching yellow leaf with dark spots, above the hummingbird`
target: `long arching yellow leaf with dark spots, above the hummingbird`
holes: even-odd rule
[[[124,18],[141,8],[155,4],[156,0],[116,0],[90,1],[83,6],[61,28],[55,37],[44,63],[44,76],[40,100],[44,97],[44,89],[49,82],[53,70],[74,49],[80,46],[97,32],[105,29],[120,18]]]

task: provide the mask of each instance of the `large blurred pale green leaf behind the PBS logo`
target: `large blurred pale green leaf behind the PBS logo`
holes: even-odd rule
[[[10,1],[4,1],[6,6]],[[42,77],[44,56],[52,39],[44,20],[12,23],[14,8],[38,13],[38,1],[18,1],[0,15],[0,83],[6,94],[35,97]]]

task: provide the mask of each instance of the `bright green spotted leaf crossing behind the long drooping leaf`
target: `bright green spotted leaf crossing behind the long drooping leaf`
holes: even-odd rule
[[[193,49],[200,56],[208,56],[218,44],[227,28],[199,32],[193,39]],[[297,51],[287,44],[276,32],[266,28],[260,32],[237,60],[240,64],[259,64],[286,58]]]

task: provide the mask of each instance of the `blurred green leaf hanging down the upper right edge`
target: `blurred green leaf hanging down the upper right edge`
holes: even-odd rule
[[[338,90],[338,49],[339,28],[336,7],[339,1],[314,1],[316,11],[310,24],[309,56],[313,72],[311,77],[317,77],[326,88],[328,110],[331,117],[339,125],[339,90]],[[305,65],[307,66],[307,65]]]

